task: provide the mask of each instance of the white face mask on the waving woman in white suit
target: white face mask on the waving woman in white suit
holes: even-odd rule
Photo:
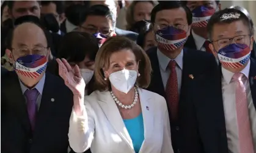
[[[111,84],[119,91],[128,93],[137,79],[137,71],[123,69],[109,75]]]

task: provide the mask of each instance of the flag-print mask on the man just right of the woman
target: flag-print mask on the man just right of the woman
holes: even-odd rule
[[[173,26],[156,31],[156,43],[160,50],[174,51],[181,48],[186,43],[186,39],[186,31]]]

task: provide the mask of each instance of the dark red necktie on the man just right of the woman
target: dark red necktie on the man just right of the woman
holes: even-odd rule
[[[175,69],[176,64],[175,60],[170,60],[168,65],[170,76],[166,85],[166,98],[172,115],[172,121],[175,121],[178,118],[178,77]]]

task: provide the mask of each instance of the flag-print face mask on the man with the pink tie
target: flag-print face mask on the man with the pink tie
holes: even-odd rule
[[[229,68],[241,68],[250,59],[251,49],[247,44],[229,44],[219,49],[218,59]]]

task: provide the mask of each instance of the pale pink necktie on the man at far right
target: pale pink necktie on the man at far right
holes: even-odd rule
[[[242,82],[242,77],[242,73],[235,73],[233,75],[233,79],[236,81],[236,116],[238,121],[240,152],[254,153],[246,88]]]

